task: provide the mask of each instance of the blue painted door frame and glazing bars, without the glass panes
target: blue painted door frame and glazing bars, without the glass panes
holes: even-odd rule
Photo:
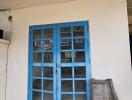
[[[60,29],[63,27],[75,27],[75,26],[83,26],[84,27],[84,43],[85,43],[85,48],[83,51],[85,51],[85,62],[74,62],[74,52],[76,52],[76,50],[74,50],[73,48],[73,28],[71,28],[71,32],[72,32],[72,36],[70,37],[72,40],[72,50],[61,50],[61,39],[67,39],[65,37],[60,36]],[[42,56],[42,62],[41,63],[34,63],[33,62],[33,53],[34,52],[41,52],[42,55],[44,55],[44,49],[40,50],[40,51],[34,51],[33,50],[33,31],[34,30],[42,30],[42,41],[44,39],[44,29],[47,28],[52,28],[53,29],[53,62],[52,63],[44,63],[44,57]],[[81,37],[79,37],[81,38]],[[44,48],[44,42],[42,42],[42,48]],[[80,52],[82,50],[79,50]],[[50,51],[47,51],[50,52]],[[72,52],[72,62],[71,63],[62,63],[61,62],[61,53],[62,52]],[[89,34],[89,25],[88,25],[88,21],[79,21],[79,22],[69,22],[69,23],[60,23],[60,24],[50,24],[50,25],[33,25],[29,27],[29,69],[28,69],[28,100],[33,100],[33,91],[37,91],[41,93],[41,100],[45,100],[44,99],[44,93],[51,93],[53,94],[53,100],[62,100],[62,95],[64,94],[71,94],[73,95],[72,100],[76,100],[75,95],[77,94],[84,94],[86,95],[87,99],[86,100],[90,100],[91,99],[91,94],[90,94],[90,79],[91,79],[91,66],[90,66],[90,34]],[[53,91],[45,91],[43,85],[41,86],[40,90],[37,89],[33,89],[33,80],[35,78],[33,78],[33,72],[32,72],[32,68],[33,66],[36,67],[42,67],[44,68],[44,66],[49,66],[53,68],[53,78],[47,78],[49,80],[53,80]],[[73,92],[62,92],[61,90],[61,81],[62,80],[71,80],[70,78],[65,78],[63,79],[61,77],[61,68],[62,67],[72,67],[72,72],[74,73],[74,68],[75,66],[86,66],[86,77],[85,78],[74,78],[74,74],[72,77],[72,84],[73,84]],[[43,76],[43,72],[42,72],[42,76]],[[40,79],[42,80],[41,83],[44,83],[44,77],[39,77],[36,79]],[[73,81],[74,80],[74,81]],[[75,80],[79,81],[79,80],[86,80],[86,92],[76,92],[75,91]]]

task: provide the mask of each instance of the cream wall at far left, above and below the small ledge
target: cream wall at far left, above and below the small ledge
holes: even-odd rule
[[[0,29],[4,30],[3,38],[9,39],[11,23],[8,21],[9,11],[0,12]],[[0,41],[0,100],[5,100],[6,64],[8,44]]]

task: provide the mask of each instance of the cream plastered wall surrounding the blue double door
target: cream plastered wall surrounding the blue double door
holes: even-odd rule
[[[131,100],[132,71],[125,0],[78,0],[12,10],[12,16],[7,100],[27,100],[29,25],[80,20],[89,20],[90,24],[92,77],[112,78],[119,100]]]

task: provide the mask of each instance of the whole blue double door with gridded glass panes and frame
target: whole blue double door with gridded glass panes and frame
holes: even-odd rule
[[[90,100],[88,22],[30,27],[28,100]]]

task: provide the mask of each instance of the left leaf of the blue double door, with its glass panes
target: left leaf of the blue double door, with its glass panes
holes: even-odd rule
[[[55,28],[38,28],[32,28],[30,34],[29,100],[56,100]]]

